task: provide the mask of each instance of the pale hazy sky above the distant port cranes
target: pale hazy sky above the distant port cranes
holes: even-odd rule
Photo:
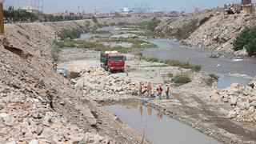
[[[30,4],[33,0],[6,0],[5,6],[14,5],[20,7]],[[94,9],[101,12],[114,12],[128,7],[150,7],[152,10],[186,10],[192,11],[194,7],[200,9],[223,6],[224,3],[240,2],[241,0],[40,0],[44,5],[45,12],[78,11],[94,12]]]

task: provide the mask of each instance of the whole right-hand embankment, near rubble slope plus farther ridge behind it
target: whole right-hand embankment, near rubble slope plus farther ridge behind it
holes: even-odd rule
[[[231,14],[225,16],[221,9],[214,9],[203,10],[198,14],[185,18],[164,18],[158,26],[158,29],[177,29],[187,24],[192,19],[201,21],[203,18],[207,17],[210,17],[210,19],[190,34],[189,38],[184,40],[187,45],[206,47],[233,54],[233,42],[236,36],[246,26],[253,26],[255,23],[255,14]],[[234,54],[246,55],[246,50],[241,50]]]

